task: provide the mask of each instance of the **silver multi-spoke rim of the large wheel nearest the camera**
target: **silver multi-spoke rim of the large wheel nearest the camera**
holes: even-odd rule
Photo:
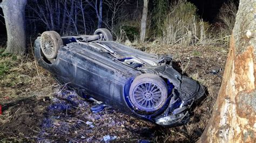
[[[154,83],[144,82],[134,88],[132,92],[134,104],[140,110],[156,111],[164,102],[163,90]]]

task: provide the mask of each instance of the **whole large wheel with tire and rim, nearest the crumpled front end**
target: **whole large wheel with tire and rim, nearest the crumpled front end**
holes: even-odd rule
[[[155,74],[143,74],[134,79],[129,97],[138,111],[154,112],[163,107],[168,96],[165,81]]]

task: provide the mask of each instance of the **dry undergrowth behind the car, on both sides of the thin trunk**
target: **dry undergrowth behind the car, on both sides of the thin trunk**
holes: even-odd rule
[[[153,1],[152,12],[148,13],[146,40],[183,46],[228,46],[237,13],[234,2],[224,3],[216,22],[210,24],[200,19],[197,7],[186,1]],[[119,18],[113,28],[119,42],[138,43],[140,17],[134,11],[131,16]]]

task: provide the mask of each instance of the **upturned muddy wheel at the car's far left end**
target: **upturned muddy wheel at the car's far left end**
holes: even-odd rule
[[[58,49],[63,45],[62,38],[55,31],[45,31],[41,35],[41,49],[45,58],[55,59],[58,54]]]

